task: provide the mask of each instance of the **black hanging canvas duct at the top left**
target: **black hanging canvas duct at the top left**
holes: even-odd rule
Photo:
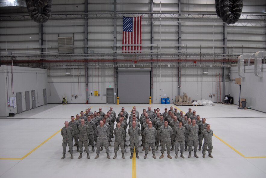
[[[37,23],[45,23],[49,20],[52,12],[52,0],[26,0],[30,18]],[[39,13],[38,9],[42,8]]]

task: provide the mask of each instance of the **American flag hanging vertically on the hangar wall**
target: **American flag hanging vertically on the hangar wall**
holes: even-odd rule
[[[123,16],[123,53],[141,53],[141,16]]]

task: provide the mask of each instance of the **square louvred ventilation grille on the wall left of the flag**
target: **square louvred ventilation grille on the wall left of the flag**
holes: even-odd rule
[[[58,37],[58,52],[60,54],[72,54],[73,37]]]

